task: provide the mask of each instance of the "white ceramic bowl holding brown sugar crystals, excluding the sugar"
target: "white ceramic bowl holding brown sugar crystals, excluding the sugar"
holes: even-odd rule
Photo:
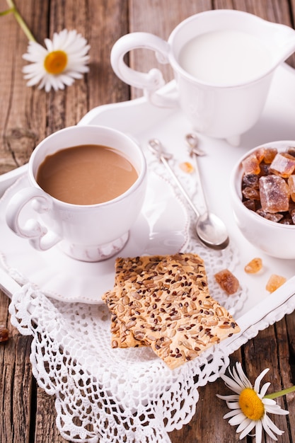
[[[256,146],[248,151],[233,167],[230,178],[231,205],[238,228],[245,238],[256,248],[267,255],[276,258],[295,258],[295,226],[280,224],[261,217],[242,202],[242,161],[261,147],[274,147],[278,151],[285,151],[289,146],[295,146],[295,141],[270,142]]]

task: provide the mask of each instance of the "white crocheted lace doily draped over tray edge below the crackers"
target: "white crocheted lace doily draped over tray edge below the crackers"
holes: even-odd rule
[[[212,350],[171,371],[149,348],[113,350],[104,305],[50,301],[30,284],[13,294],[11,323],[33,335],[39,386],[56,396],[57,427],[73,442],[170,442],[195,413],[198,386],[224,372]]]

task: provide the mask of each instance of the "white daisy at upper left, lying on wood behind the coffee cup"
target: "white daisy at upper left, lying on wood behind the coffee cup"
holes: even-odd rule
[[[28,44],[28,52],[23,58],[31,62],[23,68],[28,86],[39,84],[49,92],[71,86],[75,79],[81,79],[89,60],[87,55],[90,45],[76,30],[62,30],[54,33],[53,39],[45,39],[46,48],[35,41]]]

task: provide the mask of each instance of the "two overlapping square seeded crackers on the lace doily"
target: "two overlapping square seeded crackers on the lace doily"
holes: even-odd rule
[[[117,258],[115,286],[103,300],[112,347],[151,346],[171,369],[240,331],[210,296],[204,262],[191,253]]]

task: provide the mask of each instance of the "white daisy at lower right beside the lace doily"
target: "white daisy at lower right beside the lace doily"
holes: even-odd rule
[[[229,424],[232,426],[238,425],[237,433],[241,432],[240,440],[249,434],[255,427],[256,443],[261,443],[262,429],[274,440],[277,441],[277,435],[282,435],[284,431],[274,425],[272,420],[267,416],[267,413],[287,415],[289,411],[283,410],[271,398],[266,398],[265,393],[270,386],[270,383],[265,383],[260,389],[260,382],[269,369],[265,369],[255,380],[254,387],[245,376],[241,363],[236,363],[236,368],[233,371],[229,369],[231,378],[226,375],[221,375],[226,386],[229,387],[236,394],[231,396],[220,396],[231,411],[224,415],[224,418],[229,418]],[[283,391],[282,391],[283,392]]]

